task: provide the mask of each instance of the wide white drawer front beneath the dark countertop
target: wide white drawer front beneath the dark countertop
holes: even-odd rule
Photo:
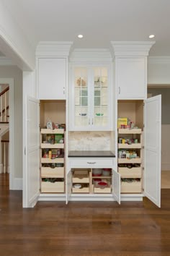
[[[70,168],[112,168],[114,166],[114,158],[69,158]]]

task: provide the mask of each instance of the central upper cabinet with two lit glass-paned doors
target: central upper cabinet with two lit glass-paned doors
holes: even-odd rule
[[[71,66],[70,130],[111,130],[111,68],[94,65]]]

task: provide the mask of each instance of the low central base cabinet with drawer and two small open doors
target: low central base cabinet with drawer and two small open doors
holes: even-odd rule
[[[74,198],[84,197],[97,200],[99,197],[109,197],[120,204],[120,174],[114,170],[114,158],[69,158],[68,174],[66,175],[66,204]],[[110,174],[104,175],[103,168],[109,168]],[[101,171],[101,176],[94,175],[94,171]],[[106,183],[106,187],[100,187],[97,180]],[[76,188],[80,184],[81,188]],[[77,200],[77,199],[76,199]]]

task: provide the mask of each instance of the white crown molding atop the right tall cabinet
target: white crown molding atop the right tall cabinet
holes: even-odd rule
[[[115,56],[148,56],[154,43],[153,41],[111,41]]]

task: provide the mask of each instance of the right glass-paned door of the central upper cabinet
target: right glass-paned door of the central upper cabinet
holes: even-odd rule
[[[94,109],[92,125],[107,127],[108,125],[108,71],[106,67],[94,67],[93,95]]]

